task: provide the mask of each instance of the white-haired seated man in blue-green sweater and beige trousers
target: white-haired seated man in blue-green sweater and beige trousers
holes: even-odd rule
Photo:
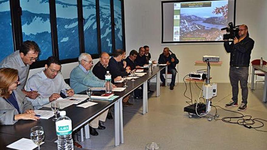
[[[70,86],[75,90],[76,93],[85,91],[88,87],[104,87],[105,80],[100,80],[97,78],[91,68],[93,66],[93,59],[90,54],[82,53],[79,56],[79,65],[73,68],[70,73]],[[108,109],[89,122],[90,134],[98,135],[96,128],[105,129],[103,125],[100,124],[99,120],[102,122],[106,121],[106,115]]]

